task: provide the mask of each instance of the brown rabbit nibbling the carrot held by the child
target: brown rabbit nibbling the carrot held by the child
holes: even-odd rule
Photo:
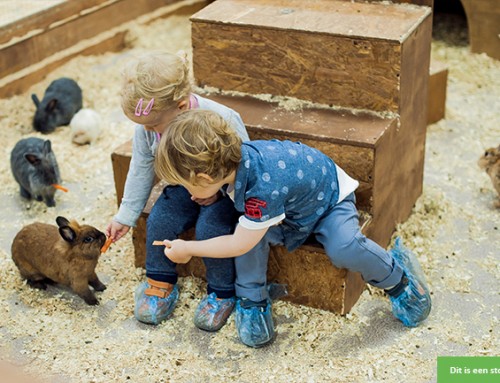
[[[89,285],[95,291],[106,289],[95,273],[106,236],[95,227],[64,217],[57,217],[56,222],[59,228],[35,222],[17,233],[11,250],[21,277],[39,289],[52,282],[69,286],[87,304],[99,304]]]

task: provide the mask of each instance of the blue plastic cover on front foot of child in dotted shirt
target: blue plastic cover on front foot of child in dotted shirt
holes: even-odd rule
[[[274,323],[271,303],[265,306],[246,299],[236,302],[236,329],[243,344],[262,347],[274,339]]]

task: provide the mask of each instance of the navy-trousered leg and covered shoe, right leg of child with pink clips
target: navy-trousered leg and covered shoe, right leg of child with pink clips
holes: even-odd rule
[[[237,222],[234,203],[228,196],[209,206],[202,206],[196,223],[196,239],[204,240],[231,234]],[[203,258],[207,278],[207,295],[198,305],[195,325],[206,331],[217,331],[234,309],[234,258]]]

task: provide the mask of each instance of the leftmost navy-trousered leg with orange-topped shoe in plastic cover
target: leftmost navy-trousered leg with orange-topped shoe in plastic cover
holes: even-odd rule
[[[154,240],[176,239],[193,227],[199,205],[183,187],[168,186],[163,190],[149,215],[146,226],[146,277],[135,292],[137,320],[158,324],[167,319],[175,308],[177,289],[176,265],[163,252],[163,246],[153,246]]]

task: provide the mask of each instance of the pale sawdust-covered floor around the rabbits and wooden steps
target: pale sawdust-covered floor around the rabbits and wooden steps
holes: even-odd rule
[[[469,52],[463,20],[441,18],[434,34],[433,55],[450,70],[446,119],[428,128],[424,193],[397,232],[418,255],[432,289],[433,310],[420,327],[403,327],[387,298],[367,289],[345,317],[276,302],[277,340],[254,350],[238,341],[233,320],[215,334],[193,325],[205,289],[195,278],[180,281],[169,321],[143,325],[133,317],[143,271],[133,267],[130,236],[101,258],[97,271],[108,288],[98,294],[98,307],[64,288],[42,292],[23,283],[10,257],[23,225],[63,215],[104,229],[115,214],[110,155],[133,130],[119,109],[119,68],[139,47],[190,50],[188,19],[173,16],[133,31],[131,50],[79,57],[26,94],[0,100],[0,359],[57,383],[418,383],[436,380],[437,356],[499,355],[500,212],[476,163],[500,143],[500,62]],[[69,128],[50,135],[70,191],[48,209],[20,199],[8,163],[17,140],[41,137],[31,129],[30,94],[41,95],[63,75],[81,84],[84,106],[99,111],[107,127],[92,146],[73,145]]]

